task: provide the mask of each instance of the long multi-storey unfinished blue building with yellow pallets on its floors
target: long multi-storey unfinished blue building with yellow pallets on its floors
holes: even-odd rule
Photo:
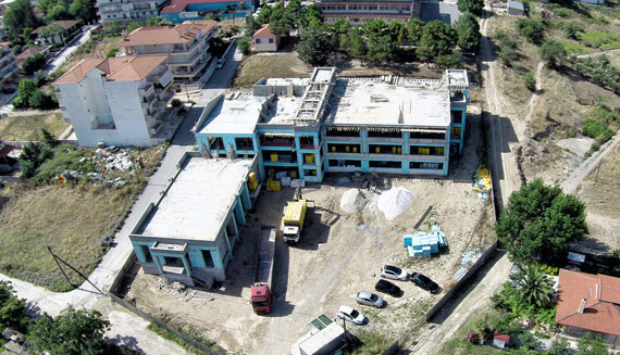
[[[261,179],[285,172],[322,181],[326,173],[448,174],[462,151],[467,71],[441,79],[262,79],[251,93],[220,97],[197,123],[206,156],[257,156]],[[207,124],[208,123],[208,124]]]

